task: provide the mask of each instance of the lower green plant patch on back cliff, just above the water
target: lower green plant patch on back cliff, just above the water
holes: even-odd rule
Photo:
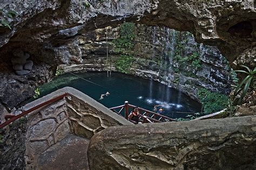
[[[120,55],[119,58],[114,62],[114,66],[120,73],[129,73],[132,61],[134,61],[133,55]]]

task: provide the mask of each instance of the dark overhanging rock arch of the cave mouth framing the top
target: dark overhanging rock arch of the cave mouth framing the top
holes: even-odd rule
[[[121,0],[95,1],[88,0],[53,0],[53,1],[9,1],[4,0],[0,9],[4,13],[10,10],[17,12],[11,19],[3,13],[11,30],[0,26],[0,58],[1,80],[5,76],[13,76],[11,58],[13,49],[21,49],[30,54],[28,60],[33,61],[35,68],[48,65],[54,70],[62,63],[81,63],[82,51],[75,41],[77,36],[90,30],[115,26],[126,22],[147,25],[167,26],[179,31],[190,31],[198,42],[216,45],[227,57],[230,65],[233,61],[238,65],[245,63],[255,66],[255,5],[252,1],[214,1],[196,3],[177,0]],[[5,67],[6,66],[6,67]],[[237,67],[232,65],[232,67]],[[41,73],[41,72],[40,72]],[[37,76],[40,73],[37,72]],[[45,71],[49,73],[49,71]],[[24,76],[28,80],[28,77]],[[1,81],[3,82],[3,81]],[[17,92],[11,98],[21,103],[16,96],[26,95],[22,91],[22,82],[17,83]],[[37,82],[30,83],[30,89]],[[2,90],[2,89],[1,89]],[[5,89],[1,93],[8,93]],[[33,91],[30,90],[30,94]],[[22,98],[22,97],[21,97]],[[0,98],[1,103],[6,105]],[[14,107],[16,104],[10,104]]]

